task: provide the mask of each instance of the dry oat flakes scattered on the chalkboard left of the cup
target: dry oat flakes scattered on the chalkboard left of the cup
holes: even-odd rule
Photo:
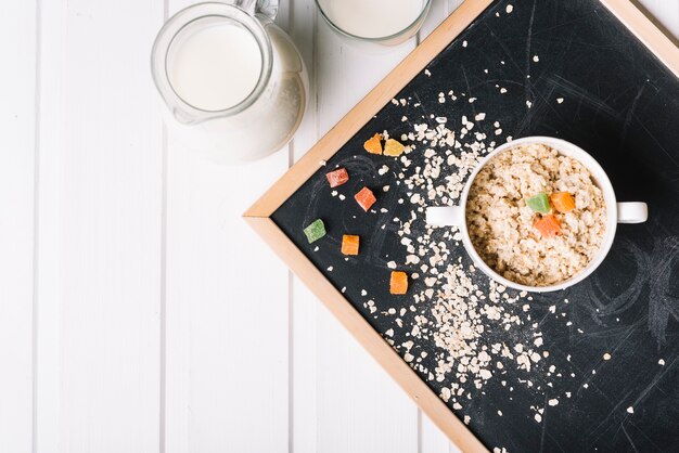
[[[501,93],[508,91],[499,86],[496,89]],[[440,103],[459,98],[467,102],[476,100],[469,93],[452,90],[441,90],[438,95]],[[543,389],[552,387],[548,376],[561,377],[561,374],[556,375],[555,367],[550,366],[549,352],[541,350],[547,337],[543,339],[539,332],[539,323],[530,321],[531,311],[526,301],[533,298],[525,292],[508,290],[485,280],[474,266],[458,257],[454,250],[459,244],[456,243],[462,240],[459,231],[425,225],[426,206],[453,205],[460,198],[467,177],[485,155],[505,140],[512,140],[511,135],[496,139],[502,133],[500,122],[488,119],[490,115],[485,113],[470,117],[456,116],[453,112],[446,115],[437,117],[427,113],[417,124],[403,124],[409,131],[398,132],[410,152],[419,153],[420,159],[411,165],[406,155],[398,158],[398,164],[402,165],[394,172],[394,178],[398,189],[402,189],[402,195],[395,199],[400,205],[399,213],[381,229],[384,230],[387,223],[389,228],[396,226],[397,244],[403,253],[399,255],[398,264],[392,260],[386,268],[395,270],[397,266],[403,266],[409,277],[419,279],[418,284],[411,285],[408,294],[401,296],[410,298],[410,307],[384,311],[377,310],[373,302],[369,310],[376,313],[375,319],[389,316],[384,322],[392,323],[393,328],[387,331],[388,335],[385,333],[385,338],[410,366],[430,383],[440,383],[441,386],[449,383],[439,390],[439,396],[456,411],[463,407],[464,399],[492,379],[501,381],[510,392],[518,386],[533,388],[536,398],[545,401]],[[485,129],[478,122],[483,120],[494,124],[494,129],[479,130]],[[386,140],[386,134],[382,139]],[[387,190],[388,186],[383,187],[384,192]],[[386,203],[387,196],[384,197]],[[383,259],[386,261],[389,256],[383,256]],[[385,271],[385,277],[387,274]],[[528,309],[524,311],[524,307]],[[555,307],[550,311],[555,313]],[[396,328],[403,329],[408,341],[397,344],[392,339]],[[522,342],[516,341],[517,329],[529,334]],[[490,338],[498,338],[498,335],[504,340],[492,342]],[[430,351],[426,361],[422,360],[425,358],[423,350]],[[529,372],[530,379],[510,380],[508,376],[512,376],[514,370]],[[540,391],[541,396],[538,394]],[[535,411],[536,420],[541,423],[543,409]],[[464,423],[470,422],[471,417],[465,416]]]

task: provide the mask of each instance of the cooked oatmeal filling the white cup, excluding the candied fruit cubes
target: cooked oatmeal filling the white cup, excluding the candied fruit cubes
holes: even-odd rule
[[[575,208],[536,212],[526,200],[538,194],[571,194]],[[559,233],[542,233],[541,220],[558,222]],[[470,237],[482,259],[505,279],[530,286],[580,272],[599,250],[605,220],[603,195],[589,170],[542,144],[495,156],[476,176],[466,205]]]

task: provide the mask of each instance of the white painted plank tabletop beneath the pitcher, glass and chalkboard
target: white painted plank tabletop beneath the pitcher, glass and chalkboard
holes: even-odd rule
[[[460,1],[366,52],[283,0],[309,111],[241,168],[154,104],[152,39],[190,2],[0,2],[0,452],[454,451],[240,215]],[[641,3],[679,36],[679,0]]]

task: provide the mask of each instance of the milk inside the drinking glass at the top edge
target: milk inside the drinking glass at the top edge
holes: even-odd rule
[[[411,25],[425,0],[319,0],[328,18],[360,38],[384,38]]]

